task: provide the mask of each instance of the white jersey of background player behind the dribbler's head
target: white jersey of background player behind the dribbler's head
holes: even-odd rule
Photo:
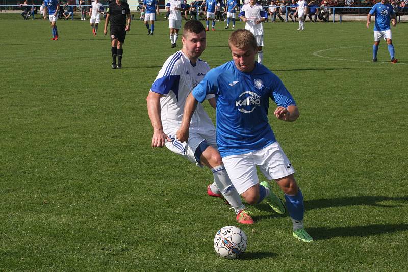
[[[264,35],[264,28],[262,23],[256,24],[255,22],[261,20],[261,18],[268,18],[267,13],[265,12],[264,8],[259,5],[255,4],[251,6],[251,4],[245,4],[242,6],[239,16],[244,16],[248,20],[245,23],[245,29],[252,32],[253,35]]]

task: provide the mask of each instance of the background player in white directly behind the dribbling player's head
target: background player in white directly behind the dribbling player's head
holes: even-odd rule
[[[252,32],[255,36],[258,46],[258,62],[262,63],[264,58],[262,51],[264,46],[264,28],[262,23],[268,19],[268,13],[265,12],[261,5],[257,4],[256,0],[250,0],[248,4],[242,6],[238,16],[245,22],[245,29]]]

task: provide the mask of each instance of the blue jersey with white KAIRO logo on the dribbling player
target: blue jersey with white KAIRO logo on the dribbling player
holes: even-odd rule
[[[268,122],[269,99],[278,106],[296,105],[281,79],[259,63],[250,73],[238,70],[234,61],[214,68],[192,94],[199,102],[208,94],[216,97],[221,157],[260,150],[276,142]]]

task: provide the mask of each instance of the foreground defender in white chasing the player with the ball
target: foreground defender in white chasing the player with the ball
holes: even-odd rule
[[[228,177],[217,150],[215,128],[203,107],[197,107],[191,121],[190,137],[185,143],[175,139],[182,121],[184,104],[191,90],[210,70],[199,56],[206,48],[206,31],[201,22],[188,21],[183,30],[183,48],[164,63],[147,96],[147,111],[154,133],[152,147],[164,145],[197,165],[205,165],[213,172],[214,183],[209,185],[210,196],[222,195],[236,211],[237,221],[253,224],[241,198]],[[215,106],[214,96],[208,97]],[[175,169],[177,171],[179,169]]]

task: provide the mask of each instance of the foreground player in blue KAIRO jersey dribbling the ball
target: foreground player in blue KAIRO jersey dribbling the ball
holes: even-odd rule
[[[268,122],[269,99],[277,104],[276,118],[288,122],[299,117],[296,103],[281,79],[255,61],[257,42],[250,31],[233,32],[228,44],[233,61],[212,69],[194,88],[186,100],[177,139],[187,140],[197,103],[214,94],[218,150],[234,187],[249,204],[268,197],[271,187],[267,181],[259,183],[258,165],[267,179],[274,179],[285,193],[293,236],[312,242],[303,227],[303,195],[295,171]],[[268,197],[266,201],[270,204],[272,200]]]

